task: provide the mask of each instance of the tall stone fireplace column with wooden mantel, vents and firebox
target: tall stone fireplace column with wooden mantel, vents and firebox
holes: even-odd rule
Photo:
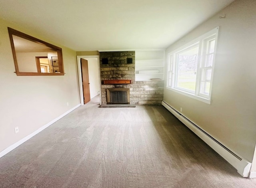
[[[100,78],[102,105],[130,104],[130,90],[135,81],[135,51],[100,52]]]

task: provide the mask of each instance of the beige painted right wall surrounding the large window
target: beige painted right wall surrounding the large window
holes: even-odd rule
[[[166,49],[167,56],[220,26],[210,105],[164,89],[164,101],[182,107],[186,117],[250,162],[256,144],[255,10],[255,0],[237,0]]]

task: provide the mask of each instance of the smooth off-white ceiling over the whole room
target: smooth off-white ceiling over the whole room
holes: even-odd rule
[[[0,0],[0,18],[75,51],[164,49],[233,1]]]

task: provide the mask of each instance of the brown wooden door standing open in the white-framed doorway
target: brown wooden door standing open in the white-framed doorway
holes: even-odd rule
[[[88,61],[81,58],[81,70],[82,70],[82,85],[84,93],[84,104],[91,100],[90,97],[90,82],[88,73]]]

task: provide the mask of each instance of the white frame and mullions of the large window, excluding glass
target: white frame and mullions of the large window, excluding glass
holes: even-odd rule
[[[218,40],[218,30],[219,27],[214,28],[213,30],[207,32],[206,34],[196,38],[195,40],[192,40],[188,44],[179,47],[178,49],[168,53],[168,62],[167,62],[167,81],[166,81],[166,88],[170,89],[172,91],[175,91],[177,93],[180,93],[182,95],[186,95],[188,97],[191,97],[193,99],[197,99],[199,101],[205,102],[210,104],[211,102],[211,93],[212,93],[212,78],[214,74],[214,61],[216,56],[216,47],[217,47],[217,40]],[[214,45],[214,52],[208,53],[208,44],[210,41],[215,40]],[[199,46],[198,51],[198,59],[197,59],[197,71],[196,71],[196,88],[195,92],[188,91],[186,89],[182,89],[177,87],[177,60],[176,55],[178,53],[181,53],[182,51],[186,51],[194,46]],[[208,55],[213,54],[213,63],[212,66],[206,66],[206,58]],[[212,70],[211,78],[206,79],[206,70]],[[210,83],[210,91],[209,94],[202,92],[203,86],[205,85],[203,83]]]

